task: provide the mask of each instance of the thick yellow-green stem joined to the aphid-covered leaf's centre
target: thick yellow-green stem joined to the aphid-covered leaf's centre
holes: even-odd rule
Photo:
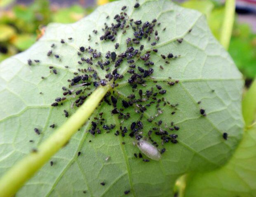
[[[9,169],[0,179],[0,197],[13,196],[54,153],[59,151],[70,140],[70,137],[85,124],[109,89],[109,85],[98,87],[75,114],[38,147],[37,152],[30,153]]]

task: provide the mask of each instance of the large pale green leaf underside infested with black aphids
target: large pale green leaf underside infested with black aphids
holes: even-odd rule
[[[127,23],[130,18],[134,21],[141,19],[143,23],[157,18],[157,23],[161,23],[156,23],[154,27],[154,31],[158,31],[159,41],[155,40],[154,32],[150,42],[141,40],[144,45],[141,55],[151,48],[158,49],[158,53],[150,53],[150,61],[154,65],[145,66],[140,58],[134,58],[137,67],[152,67],[154,73],[133,89],[127,82],[131,74],[127,73],[130,68],[127,60],[124,60],[117,70],[124,74],[124,78],[117,80],[119,86],[110,91],[118,98],[118,110],[123,108],[122,99],[128,101],[127,96],[135,94],[136,103],[122,111],[125,115],[129,112],[130,118],[126,120],[123,115],[119,119],[118,115],[112,115],[114,107],[105,100],[94,112],[91,121],[99,121],[94,117],[99,119],[99,113],[103,112],[103,124],[115,124],[115,128],[106,133],[101,126],[101,134],[94,137],[86,132],[92,128],[91,122],[85,124],[52,158],[53,165],[46,164],[16,196],[83,196],[83,191],[90,196],[121,196],[126,190],[130,190],[129,195],[134,196],[169,196],[179,175],[223,165],[240,141],[243,128],[242,76],[228,53],[212,36],[204,16],[197,11],[178,7],[169,0],[140,1],[140,7],[136,9],[133,7],[135,1],[118,1],[99,7],[77,23],[48,25],[45,35],[30,49],[0,64],[0,174],[49,137],[55,129],[50,128],[50,125],[56,124],[58,127],[66,121],[63,110],[69,114],[75,112],[77,107],[72,103],[77,98],[73,96],[67,96],[63,105],[57,107],[52,107],[51,103],[62,95],[62,86],[69,88],[70,82],[67,80],[74,77],[74,72],[84,74],[78,68],[87,69],[87,64],[78,64],[81,58],[77,55],[80,46],[97,49],[102,53],[104,62],[108,50],[120,54],[127,49],[127,37],[133,38],[131,27],[126,28],[124,34],[117,31],[113,42],[100,40],[104,23],[114,23],[113,17],[120,13],[124,5],[127,6],[125,11],[129,16]],[[94,34],[93,30],[98,33]],[[73,39],[69,40],[69,37]],[[176,41],[181,38],[182,43]],[[61,39],[64,39],[64,44],[61,44]],[[154,41],[157,44],[152,46]],[[119,43],[117,50],[114,47],[116,42]],[[53,43],[55,46],[51,48]],[[140,48],[140,45],[133,46],[135,49]],[[53,52],[48,57],[49,50]],[[177,55],[177,58],[164,60],[160,56],[169,53]],[[55,58],[55,54],[59,58]],[[89,57],[88,53],[83,54]],[[40,62],[32,62],[29,66],[28,59]],[[97,66],[97,61],[93,60],[92,67],[99,78],[104,79],[107,72]],[[57,74],[49,66],[54,66]],[[113,63],[110,63],[110,71],[113,69]],[[135,71],[139,72],[137,68]],[[42,79],[42,76],[45,78]],[[174,82],[174,85],[168,85],[167,82]],[[153,92],[159,92],[155,85],[167,91],[163,95],[157,94],[156,99],[162,100],[164,97],[168,102],[165,105],[161,101],[159,106],[155,102],[142,113],[140,104],[146,106],[150,101],[157,101],[145,95],[146,90],[151,88]],[[73,86],[70,90],[80,88],[75,89]],[[83,94],[94,90],[92,85],[90,88],[83,88]],[[141,101],[138,100],[139,89],[143,91]],[[109,96],[107,99],[111,103]],[[198,101],[201,103],[198,104]],[[176,103],[178,105],[173,106]],[[200,109],[205,109],[207,116],[201,115]],[[155,135],[153,130],[151,137],[159,145],[158,148],[166,149],[160,161],[143,162],[141,158],[134,157],[139,149],[134,146],[135,138],[128,134],[132,122],[139,121],[140,117],[144,138],[154,127],[158,132],[162,128],[169,134],[178,134],[178,143],[162,145],[160,136]],[[153,117],[151,123],[147,121],[150,117]],[[160,120],[162,125],[158,126]],[[173,128],[172,121],[174,126],[180,128],[178,131],[169,130]],[[125,137],[114,135],[120,126],[128,128]],[[37,135],[34,128],[38,128],[41,134]],[[228,140],[223,139],[224,132],[228,133]],[[81,155],[78,157],[79,151]],[[148,159],[145,155],[143,158]],[[105,186],[100,184],[102,182],[106,183]]]

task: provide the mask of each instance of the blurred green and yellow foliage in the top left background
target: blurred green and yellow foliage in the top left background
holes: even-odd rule
[[[14,2],[0,0],[0,9]],[[43,34],[43,27],[48,23],[73,23],[92,10],[79,5],[51,7],[49,0],[35,0],[30,5],[14,5],[11,9],[3,9],[0,13],[0,61],[29,48]]]

